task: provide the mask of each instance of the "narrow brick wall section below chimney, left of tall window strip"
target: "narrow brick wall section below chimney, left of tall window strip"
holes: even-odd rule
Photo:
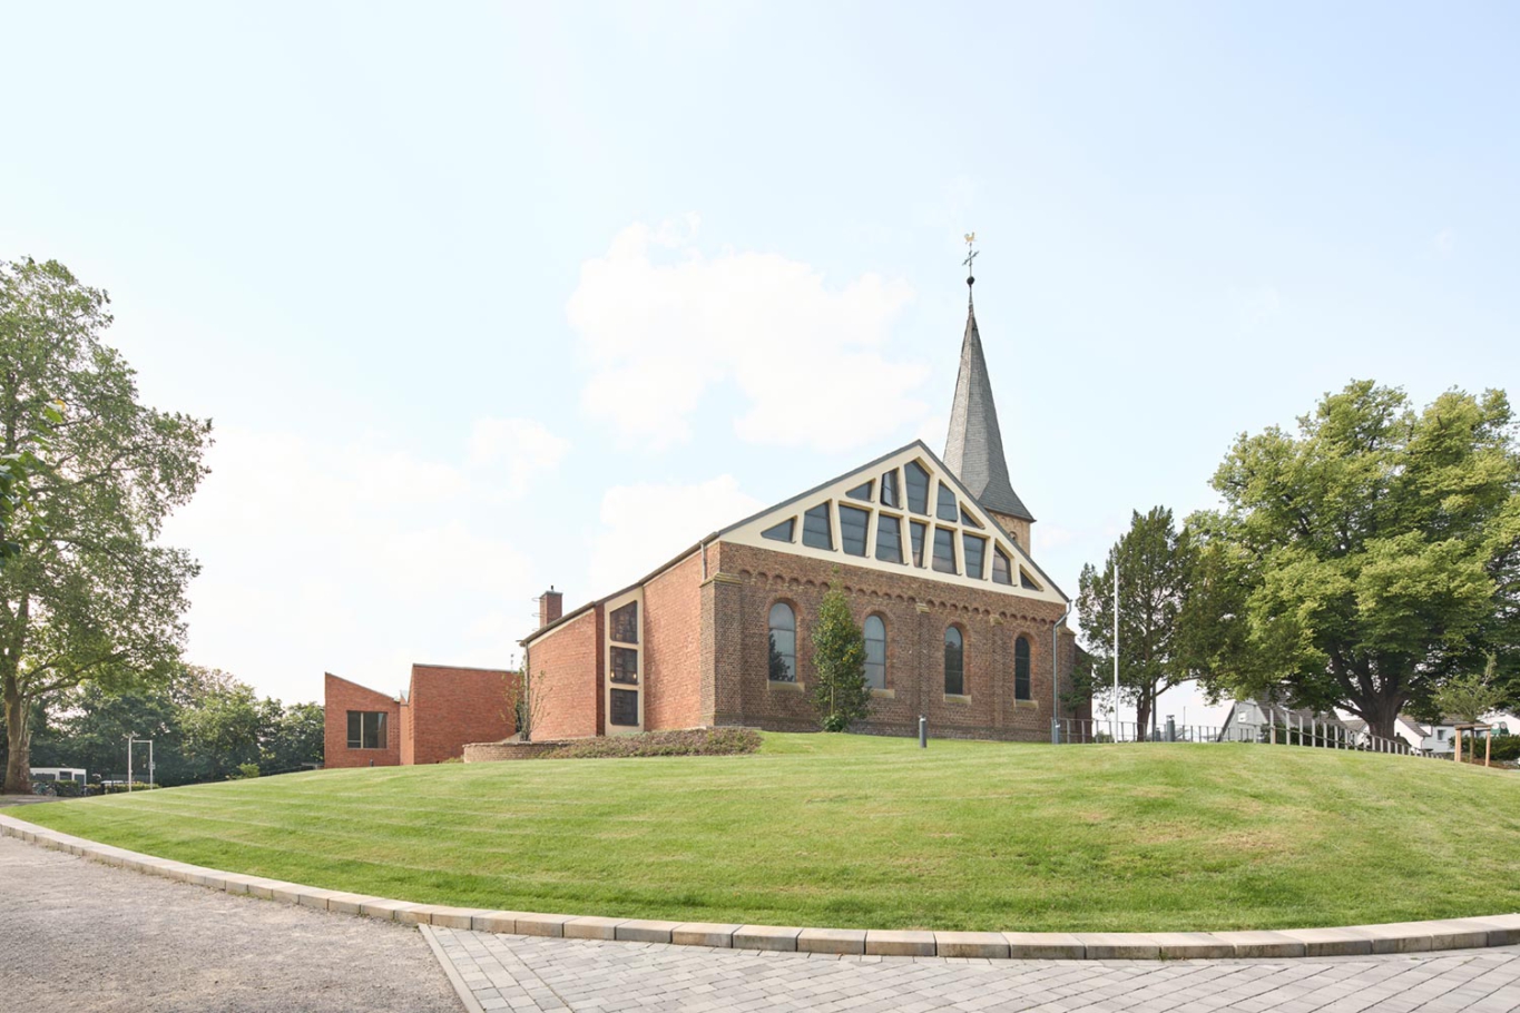
[[[602,729],[602,607],[587,609],[527,647],[540,703],[534,738],[587,738]]]

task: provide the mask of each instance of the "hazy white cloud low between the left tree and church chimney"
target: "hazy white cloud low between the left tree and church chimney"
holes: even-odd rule
[[[284,700],[319,699],[324,670],[394,693],[413,661],[509,664],[537,577],[500,509],[471,518],[564,440],[523,419],[482,419],[444,459],[236,427],[216,440],[164,532],[202,562],[190,661]]]

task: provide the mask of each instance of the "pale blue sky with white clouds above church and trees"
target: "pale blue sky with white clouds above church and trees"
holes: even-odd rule
[[[1515,5],[3,8],[0,258],[213,419],[187,658],[286,702],[942,450],[970,231],[1072,595],[1353,378],[1520,387]]]

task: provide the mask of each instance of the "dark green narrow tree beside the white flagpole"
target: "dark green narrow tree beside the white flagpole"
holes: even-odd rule
[[[1180,617],[1192,585],[1193,545],[1178,533],[1172,512],[1152,507],[1135,510],[1125,532],[1099,570],[1082,566],[1078,609],[1082,638],[1091,655],[1091,691],[1111,683],[1114,668],[1114,566],[1119,568],[1119,693],[1134,703],[1135,721],[1151,727],[1157,699],[1192,679],[1178,650]],[[1113,690],[1110,690],[1113,694]]]

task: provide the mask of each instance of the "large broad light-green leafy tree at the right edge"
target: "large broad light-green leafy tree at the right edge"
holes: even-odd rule
[[[1503,392],[1423,412],[1356,381],[1214,475],[1187,655],[1214,697],[1283,691],[1391,738],[1458,671],[1520,647],[1520,454]],[[1205,607],[1207,604],[1207,607]]]

